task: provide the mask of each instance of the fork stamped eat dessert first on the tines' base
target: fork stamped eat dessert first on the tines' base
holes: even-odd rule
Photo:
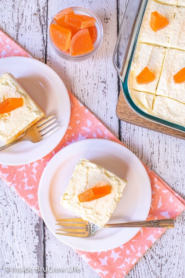
[[[71,237],[93,237],[93,235],[100,229],[110,228],[110,227],[146,227],[146,228],[174,228],[174,219],[158,219],[150,221],[139,221],[139,222],[128,222],[128,223],[116,223],[116,224],[106,224],[103,228],[97,225],[84,221],[81,218],[70,218],[70,219],[58,219],[56,220],[60,223],[55,223],[56,225],[68,226],[68,229],[56,229],[56,234],[67,235]],[[62,232],[62,233],[61,233]]]

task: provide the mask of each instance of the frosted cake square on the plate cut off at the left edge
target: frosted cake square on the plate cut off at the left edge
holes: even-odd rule
[[[4,106],[5,101],[11,99],[21,99],[22,105],[15,108],[13,106],[8,112],[6,108],[0,110],[0,140],[5,144],[14,141],[45,116],[16,78],[6,72],[0,76],[0,104]]]

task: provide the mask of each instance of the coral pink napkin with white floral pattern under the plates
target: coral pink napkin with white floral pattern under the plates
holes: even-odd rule
[[[30,56],[0,30],[0,58]],[[88,111],[70,92],[71,119],[68,130],[59,145],[44,158],[21,166],[0,164],[0,177],[36,212],[39,213],[37,191],[43,169],[48,161],[65,146],[82,139],[104,138],[121,142]],[[77,128],[78,127],[78,128]],[[74,133],[75,130],[75,133]],[[148,220],[175,218],[185,209],[185,200],[144,165],[152,187],[152,204]],[[144,252],[166,229],[143,228],[129,242],[106,252],[76,250],[101,277],[123,277]]]

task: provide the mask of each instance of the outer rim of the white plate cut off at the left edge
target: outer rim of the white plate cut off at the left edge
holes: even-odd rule
[[[47,78],[48,78],[48,80],[51,82],[53,88],[55,87],[54,86],[55,82],[52,82],[52,78],[55,78],[57,80],[57,82],[61,82],[61,85],[62,85],[62,88],[63,88],[63,96],[65,98],[65,103],[68,106],[68,113],[65,114],[65,121],[66,121],[66,123],[64,125],[63,130],[62,130],[61,136],[58,136],[58,140],[55,140],[55,143],[51,144],[52,147],[50,147],[49,150],[48,150],[48,148],[46,148],[46,147],[44,148],[43,147],[43,151],[42,151],[42,153],[40,155],[39,155],[39,152],[35,151],[35,157],[33,157],[33,156],[30,157],[29,156],[29,153],[30,153],[29,150],[26,151],[26,152],[23,152],[23,154],[20,155],[19,157],[18,157],[18,155],[14,154],[14,153],[12,153],[12,154],[8,153],[8,155],[6,155],[6,153],[3,154],[3,151],[2,151],[1,154],[3,154],[3,155],[0,156],[0,163],[4,164],[4,165],[8,165],[8,166],[18,166],[18,165],[29,164],[29,163],[35,162],[35,161],[37,161],[39,159],[42,159],[47,154],[52,152],[55,149],[55,147],[60,143],[62,138],[64,137],[64,135],[65,135],[65,133],[66,133],[66,131],[68,129],[68,125],[69,125],[70,117],[71,117],[71,103],[70,103],[70,97],[69,97],[68,90],[67,90],[63,80],[55,72],[55,70],[53,70],[49,65],[45,64],[44,62],[39,61],[39,60],[37,60],[35,58],[32,58],[32,57],[27,57],[27,56],[10,56],[10,57],[1,58],[0,59],[0,66],[4,65],[4,67],[5,67],[5,64],[6,64],[6,67],[10,67],[11,64],[12,64],[12,66],[14,66],[18,62],[21,63],[21,65],[24,65],[25,67],[26,66],[29,67],[29,65],[33,65],[33,64],[35,66],[37,66],[37,67],[39,65],[40,72],[41,72],[42,69],[44,70],[44,74],[41,73],[40,76],[43,76],[43,78],[45,79],[45,82],[47,82]],[[3,72],[5,72],[5,71],[3,71],[2,67],[1,67],[0,74],[2,74]],[[39,71],[36,70],[35,72],[37,74]],[[19,73],[19,71],[18,71],[18,73]],[[29,70],[27,71],[27,73],[28,74],[26,74],[25,76],[29,77]],[[12,74],[14,74],[14,73],[12,73]],[[18,78],[20,78],[20,77],[18,77]],[[39,81],[39,78],[37,79],[37,81]],[[55,87],[55,90],[56,90],[56,92],[59,91],[59,90],[57,90],[56,87]],[[60,96],[60,94],[58,92],[56,93],[56,96],[57,95]],[[44,112],[46,113],[46,116],[50,116],[50,115],[47,115],[46,111],[44,111]],[[60,128],[59,128],[59,131],[61,131]],[[57,134],[59,134],[59,132]],[[49,137],[46,138],[45,140],[48,140],[48,139],[49,139]],[[44,141],[42,141],[42,144],[43,144],[43,142]],[[34,144],[38,144],[38,143],[34,143]],[[16,148],[16,145],[12,146],[11,148]],[[36,146],[36,148],[38,148],[38,147]],[[34,145],[33,145],[33,149],[34,149]],[[9,150],[9,149],[7,149],[7,150]],[[11,158],[11,155],[13,156],[13,159]]]

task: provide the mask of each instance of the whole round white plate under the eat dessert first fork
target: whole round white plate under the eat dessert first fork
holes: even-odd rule
[[[55,237],[73,248],[90,252],[116,248],[133,238],[140,228],[102,229],[88,238],[55,234],[55,229],[59,228],[55,220],[76,217],[76,214],[60,206],[60,196],[69,183],[76,163],[82,157],[128,180],[109,223],[146,220],[151,205],[151,185],[142,162],[123,145],[105,139],[77,141],[51,158],[39,183],[40,213]]]

